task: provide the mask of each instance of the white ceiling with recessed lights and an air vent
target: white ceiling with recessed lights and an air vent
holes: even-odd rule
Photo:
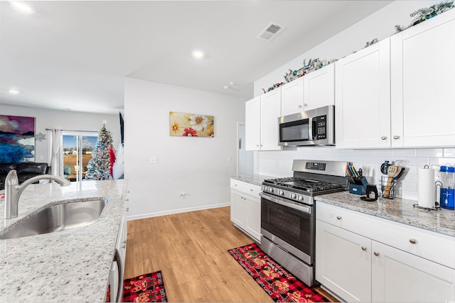
[[[1,1],[0,104],[116,114],[124,77],[247,100],[255,80],[390,2],[26,1],[24,14]],[[284,30],[256,38],[271,21]]]

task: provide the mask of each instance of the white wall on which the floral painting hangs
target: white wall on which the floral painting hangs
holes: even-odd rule
[[[228,205],[245,100],[131,78],[124,92],[129,219]],[[215,116],[215,137],[170,136],[169,111]]]

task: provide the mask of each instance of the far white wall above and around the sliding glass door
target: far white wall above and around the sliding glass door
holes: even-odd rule
[[[45,128],[60,128],[74,131],[99,131],[102,121],[107,120],[106,128],[112,133],[114,148],[120,143],[119,115],[86,114],[75,111],[54,111],[49,109],[32,109],[29,107],[4,106],[1,115],[35,117],[35,134],[44,133]],[[35,162],[48,162],[48,135],[44,141],[35,141]]]

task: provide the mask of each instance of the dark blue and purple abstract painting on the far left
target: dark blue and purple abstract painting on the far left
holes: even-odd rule
[[[0,115],[0,163],[35,161],[35,118]]]

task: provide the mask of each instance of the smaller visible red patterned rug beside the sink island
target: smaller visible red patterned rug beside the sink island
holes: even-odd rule
[[[161,270],[125,279],[122,302],[168,302]]]

